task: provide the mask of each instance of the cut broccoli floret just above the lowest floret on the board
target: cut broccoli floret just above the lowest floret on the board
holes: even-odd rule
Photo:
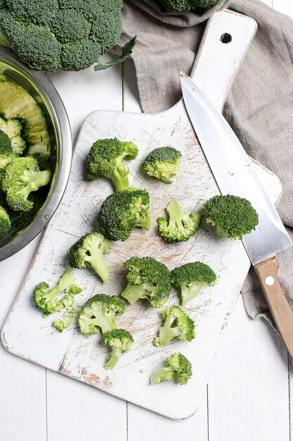
[[[159,328],[159,337],[155,337],[153,344],[162,346],[174,338],[182,342],[191,342],[195,338],[195,323],[178,306],[171,306],[162,311],[164,326]]]

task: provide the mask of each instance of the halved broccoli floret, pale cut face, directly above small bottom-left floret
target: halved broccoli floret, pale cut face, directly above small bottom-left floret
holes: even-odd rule
[[[125,303],[119,297],[96,294],[84,304],[79,314],[80,332],[89,337],[100,330],[105,334],[116,329],[115,315],[121,316],[124,311]]]

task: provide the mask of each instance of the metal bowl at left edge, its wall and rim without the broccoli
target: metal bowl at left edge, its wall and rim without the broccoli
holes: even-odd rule
[[[30,225],[0,244],[0,261],[29,244],[44,229],[55,213],[65,192],[72,161],[72,137],[65,106],[44,73],[22,64],[13,52],[0,45],[0,73],[27,89],[37,101],[51,136],[53,179],[46,201]]]

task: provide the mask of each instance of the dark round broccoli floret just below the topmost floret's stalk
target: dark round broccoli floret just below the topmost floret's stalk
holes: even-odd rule
[[[129,187],[110,194],[100,207],[100,231],[111,240],[126,240],[135,227],[150,230],[150,196],[146,190]]]

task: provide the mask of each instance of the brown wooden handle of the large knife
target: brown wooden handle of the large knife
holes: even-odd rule
[[[275,325],[293,359],[293,311],[278,280],[278,268],[276,257],[254,266]]]

